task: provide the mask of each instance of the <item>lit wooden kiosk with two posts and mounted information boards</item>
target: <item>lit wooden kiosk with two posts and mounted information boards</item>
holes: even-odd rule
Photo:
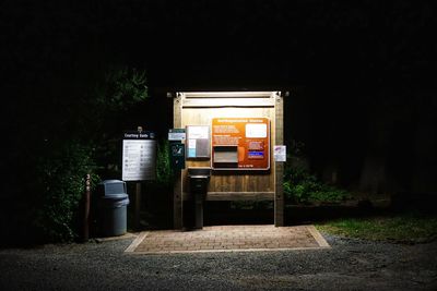
[[[174,98],[174,128],[186,129],[186,167],[174,193],[175,228],[182,202],[192,199],[190,172],[210,169],[206,201],[274,201],[275,226],[283,225],[281,92],[185,92]]]

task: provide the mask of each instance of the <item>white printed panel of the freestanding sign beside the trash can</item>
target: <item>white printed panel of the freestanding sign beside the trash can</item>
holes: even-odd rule
[[[156,177],[156,141],[123,140],[123,181],[154,180]]]

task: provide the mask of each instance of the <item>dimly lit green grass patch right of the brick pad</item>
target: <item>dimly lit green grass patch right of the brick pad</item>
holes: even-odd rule
[[[437,216],[415,213],[341,218],[316,227],[343,237],[399,243],[427,242],[437,238]]]

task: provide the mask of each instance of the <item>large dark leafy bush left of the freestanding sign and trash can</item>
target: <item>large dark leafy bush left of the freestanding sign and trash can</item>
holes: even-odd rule
[[[8,213],[16,221],[2,229],[25,233],[35,242],[72,241],[79,234],[84,175],[92,173],[96,185],[96,165],[105,179],[107,173],[119,174],[118,167],[109,166],[119,165],[121,131],[134,119],[127,112],[135,110],[149,93],[145,72],[130,68],[105,71],[84,83],[80,94],[44,99],[50,112],[32,120],[38,131],[21,133],[26,146],[13,159],[22,169],[16,179],[20,184],[8,201],[12,205]]]

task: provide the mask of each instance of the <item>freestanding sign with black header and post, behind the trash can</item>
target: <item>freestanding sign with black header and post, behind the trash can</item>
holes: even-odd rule
[[[141,182],[156,178],[156,141],[153,132],[127,131],[122,141],[122,178],[123,181],[134,181],[134,228],[140,229]]]

